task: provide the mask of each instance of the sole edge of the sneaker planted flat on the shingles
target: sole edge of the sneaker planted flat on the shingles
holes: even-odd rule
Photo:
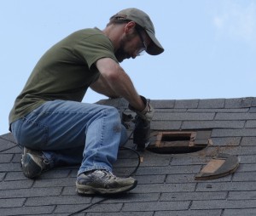
[[[80,185],[76,183],[77,192],[81,195],[93,195],[93,194],[100,194],[100,195],[110,195],[110,194],[121,194],[127,191],[134,189],[137,186],[137,180],[134,182],[133,185],[128,185],[122,188],[95,188],[91,187],[90,185]]]

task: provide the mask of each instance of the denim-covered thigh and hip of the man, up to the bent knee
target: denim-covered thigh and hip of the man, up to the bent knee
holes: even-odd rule
[[[107,106],[54,100],[41,105],[12,126],[19,145],[61,150],[85,144],[88,122]]]

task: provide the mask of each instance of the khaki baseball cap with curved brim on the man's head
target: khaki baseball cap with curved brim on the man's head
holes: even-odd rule
[[[148,54],[157,55],[164,52],[165,49],[161,46],[160,42],[155,37],[154,25],[148,14],[140,9],[131,8],[123,9],[119,11],[119,13],[114,14],[111,18],[113,17],[122,17],[126,20],[134,21],[137,23],[137,25],[143,27],[143,29],[147,32],[148,37],[150,37],[152,40],[146,51]]]

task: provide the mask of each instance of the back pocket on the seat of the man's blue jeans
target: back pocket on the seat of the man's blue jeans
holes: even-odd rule
[[[48,127],[23,117],[17,139],[22,146],[31,149],[44,149],[49,139]]]

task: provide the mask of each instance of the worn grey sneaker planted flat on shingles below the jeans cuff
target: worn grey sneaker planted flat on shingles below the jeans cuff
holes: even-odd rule
[[[76,181],[79,194],[119,194],[132,190],[137,185],[137,180],[131,177],[118,178],[106,170],[94,170],[81,173]]]

